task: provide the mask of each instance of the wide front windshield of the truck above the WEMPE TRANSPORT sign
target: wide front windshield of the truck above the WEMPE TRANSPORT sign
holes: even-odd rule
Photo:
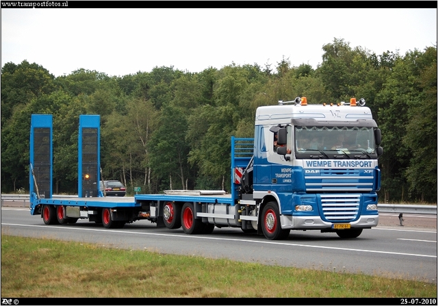
[[[375,153],[372,127],[295,127],[296,153],[305,151],[358,151]]]

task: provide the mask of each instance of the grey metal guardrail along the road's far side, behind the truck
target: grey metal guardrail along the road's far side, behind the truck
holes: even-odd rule
[[[77,198],[63,194],[53,194],[53,199]],[[13,201],[21,203],[23,207],[29,206],[29,194],[1,194],[1,206],[3,201]],[[28,203],[26,205],[26,203]],[[406,204],[378,204],[378,211],[394,214],[437,214],[437,205],[406,205]]]

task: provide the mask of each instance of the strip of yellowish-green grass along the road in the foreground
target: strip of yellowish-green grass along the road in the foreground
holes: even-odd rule
[[[437,285],[2,234],[1,296],[407,298]]]

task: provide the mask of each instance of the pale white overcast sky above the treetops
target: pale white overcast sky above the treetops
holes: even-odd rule
[[[335,38],[376,55],[424,51],[437,45],[437,9],[1,9],[1,66],[27,60],[55,77],[80,68],[119,77],[162,66],[275,70],[283,59],[317,68]]]

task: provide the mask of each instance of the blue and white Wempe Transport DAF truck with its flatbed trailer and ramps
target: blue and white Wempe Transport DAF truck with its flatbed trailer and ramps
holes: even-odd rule
[[[164,190],[106,197],[100,181],[100,117],[79,116],[78,196],[52,190],[52,116],[31,115],[30,212],[46,225],[79,218],[120,228],[137,220],[187,234],[237,227],[268,240],[291,230],[357,238],[378,225],[381,131],[365,101],[261,106],[254,138],[231,137],[231,190]]]

